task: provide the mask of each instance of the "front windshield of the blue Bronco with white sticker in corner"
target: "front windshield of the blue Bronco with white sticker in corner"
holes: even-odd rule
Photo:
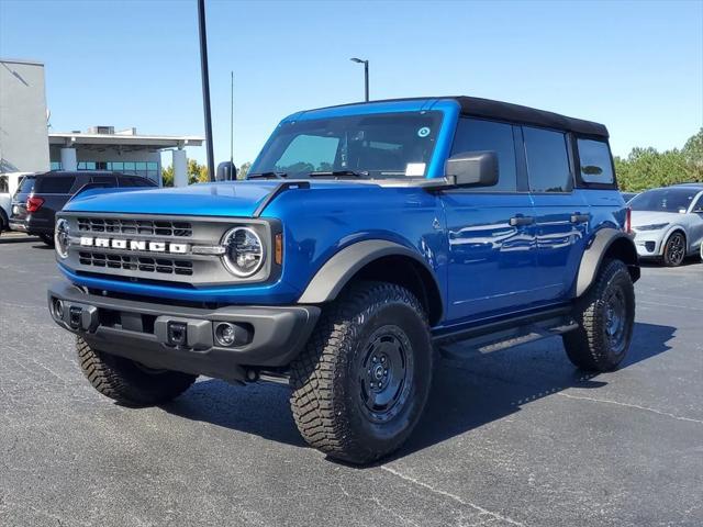
[[[288,178],[424,177],[440,123],[440,112],[286,122],[249,177],[270,172]]]

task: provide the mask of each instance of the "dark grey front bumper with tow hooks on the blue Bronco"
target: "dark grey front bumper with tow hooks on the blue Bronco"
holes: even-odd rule
[[[100,351],[234,381],[245,379],[247,367],[289,365],[320,315],[312,305],[182,307],[89,294],[68,282],[49,287],[48,307],[58,325]],[[234,325],[233,346],[216,343],[217,323]]]

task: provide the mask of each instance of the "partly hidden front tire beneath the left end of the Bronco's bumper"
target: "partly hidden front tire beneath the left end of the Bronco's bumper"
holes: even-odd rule
[[[103,395],[125,406],[153,406],[176,399],[197,375],[168,370],[149,370],[133,360],[91,348],[76,340],[78,361],[86,378]]]

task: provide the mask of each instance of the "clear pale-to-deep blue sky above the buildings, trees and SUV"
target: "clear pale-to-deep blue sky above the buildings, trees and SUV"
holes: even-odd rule
[[[703,125],[703,1],[209,0],[215,161],[281,117],[362,98],[471,94],[605,123],[617,155]],[[196,0],[0,0],[0,56],[46,65],[54,131],[203,135]],[[204,148],[191,148],[204,159]],[[168,160],[170,156],[166,156]]]

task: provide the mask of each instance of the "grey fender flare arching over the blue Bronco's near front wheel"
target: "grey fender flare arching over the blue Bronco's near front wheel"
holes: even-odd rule
[[[330,258],[317,270],[298,302],[321,304],[336,299],[339,291],[359,270],[386,256],[402,256],[413,259],[432,277],[439,298],[443,296],[434,270],[420,253],[387,239],[367,239],[352,244]]]

